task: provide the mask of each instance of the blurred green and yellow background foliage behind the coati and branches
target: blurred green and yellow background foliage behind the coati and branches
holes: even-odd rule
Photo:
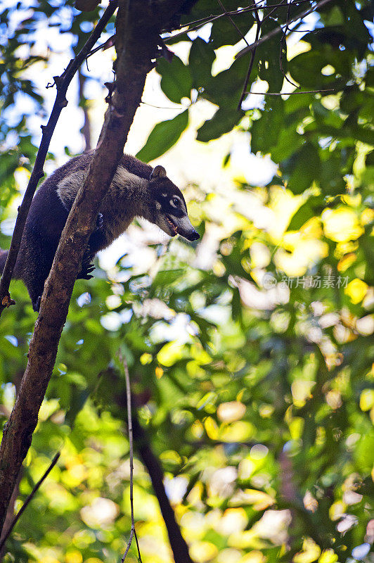
[[[292,4],[290,15],[309,4]],[[28,170],[37,150],[30,116],[45,113],[27,72],[48,63],[34,53],[37,34],[57,26],[71,34],[72,46],[82,44],[99,10],[80,14],[58,1],[17,8],[0,15],[3,219],[19,194],[14,172]],[[285,21],[287,10],[266,18],[263,34]],[[220,12],[219,4],[199,0],[183,23]],[[175,240],[166,253],[149,246],[151,267],[139,271],[125,257],[109,278],[99,272],[77,281],[16,509],[56,450],[62,455],[8,540],[5,561],[109,563],[124,552],[131,522],[120,347],[195,562],[373,561],[371,19],[366,0],[332,1],[284,53],[292,82],[333,94],[252,96],[252,108],[242,111],[236,106],[249,56],[212,75],[217,49],[240,41],[227,18],[214,20],[207,41],[196,34],[169,39],[172,47],[191,44],[187,64],[174,56],[157,66],[170,102],[217,106],[198,140],[235,128],[250,137],[252,153],[270,154],[278,174],[262,187],[232,182],[226,194],[190,186],[191,217],[204,234],[196,248]],[[250,11],[235,21],[243,34],[255,24]],[[257,49],[250,84],[261,80],[280,91],[285,83],[292,91],[279,50],[280,35]],[[25,96],[30,113],[22,112]],[[141,158],[176,143],[188,111],[185,105],[156,125]],[[267,227],[257,213],[270,217]],[[8,242],[1,234],[1,246]],[[0,325],[3,422],[34,324],[25,288],[13,282],[11,292],[17,305]],[[138,461],[134,497],[143,561],[172,560]],[[132,548],[129,557],[136,561]]]

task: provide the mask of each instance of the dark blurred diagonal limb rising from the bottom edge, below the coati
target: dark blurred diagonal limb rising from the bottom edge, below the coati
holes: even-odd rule
[[[138,450],[143,464],[147,468],[150,480],[152,481],[153,491],[155,491],[155,495],[160,505],[162,518],[165,521],[174,560],[176,563],[193,563],[193,560],[188,552],[188,545],[181,534],[181,530],[179,529],[179,525],[175,519],[174,510],[172,509],[165,492],[163,483],[164,472],[162,471],[160,461],[153,453],[148,436],[146,435],[143,426],[141,426],[138,421],[138,417],[135,412],[133,412],[132,428],[136,449]]]

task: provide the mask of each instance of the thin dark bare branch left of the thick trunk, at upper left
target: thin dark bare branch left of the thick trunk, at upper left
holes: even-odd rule
[[[82,50],[79,51],[77,56],[70,61],[62,75],[53,77],[54,83],[56,84],[57,88],[56,100],[53,104],[47,125],[41,126],[43,134],[41,136],[41,143],[37,152],[37,158],[35,160],[32,175],[30,176],[29,183],[27,184],[27,189],[25,191],[25,195],[23,196],[22,203],[18,208],[18,215],[13,231],[11,248],[9,248],[4,271],[1,275],[0,280],[0,315],[6,307],[15,303],[9,295],[9,285],[11,283],[18,251],[20,249],[22,233],[25,227],[25,222],[27,219],[27,214],[29,213],[32,198],[34,197],[34,193],[37,189],[39,180],[44,176],[43,167],[46,160],[46,154],[49,149],[49,144],[51,143],[51,138],[56,128],[58,118],[60,117],[60,113],[63,108],[67,106],[67,99],[65,97],[67,88],[69,87],[69,84],[72,81],[75,72],[77,72],[80,65],[82,65],[86,56],[91,51],[93,45],[101,36],[101,33],[105,29],[108,21],[112,17],[113,13],[115,13],[116,8],[117,0],[112,0],[108,8],[106,8],[105,12],[103,13],[101,20],[99,20],[95,29],[91,33],[89,39],[86,41],[86,44],[84,44],[84,46],[82,47]]]

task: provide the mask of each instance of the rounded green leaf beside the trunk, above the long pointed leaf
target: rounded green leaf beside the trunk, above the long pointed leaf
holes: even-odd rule
[[[181,103],[182,98],[191,97],[191,72],[179,57],[174,55],[171,63],[162,58],[157,64],[157,72],[161,75],[162,91],[169,100]]]

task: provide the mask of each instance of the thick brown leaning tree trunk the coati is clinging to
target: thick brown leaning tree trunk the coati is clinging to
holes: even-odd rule
[[[160,30],[178,13],[183,0],[119,1],[117,77],[101,138],[79,189],[41,298],[20,393],[4,427],[0,446],[0,529],[22,461],[32,441],[41,402],[51,378],[58,342],[84,249],[96,225],[99,205],[123,154],[146,75],[155,65]]]

